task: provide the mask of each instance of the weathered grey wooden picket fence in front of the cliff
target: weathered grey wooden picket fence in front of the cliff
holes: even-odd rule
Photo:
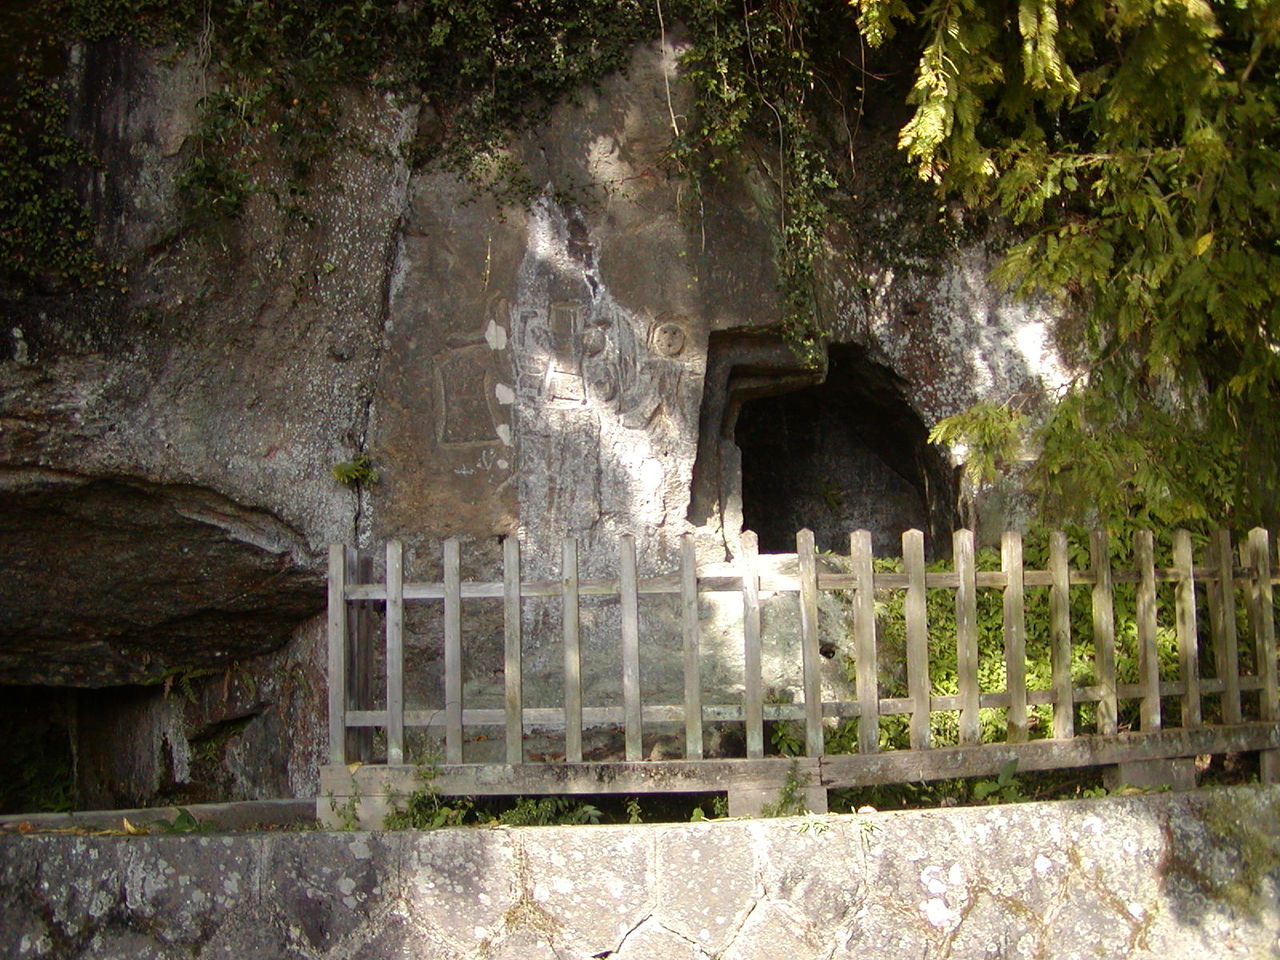
[[[1170,758],[1228,751],[1262,751],[1263,774],[1274,777],[1280,767],[1280,704],[1276,682],[1275,604],[1277,582],[1272,547],[1266,530],[1249,532],[1239,552],[1228,531],[1212,538],[1197,564],[1192,536],[1172,535],[1170,566],[1156,566],[1155,536],[1139,531],[1134,538],[1132,568],[1114,570],[1107,536],[1093,532],[1089,564],[1073,568],[1068,538],[1050,536],[1046,570],[1028,570],[1023,562],[1023,539],[1016,531],[1001,543],[1001,568],[978,570],[972,531],[954,534],[948,571],[929,571],[924,536],[911,530],[902,535],[902,571],[881,572],[873,567],[868,531],[850,535],[849,556],[840,570],[819,563],[813,534],[796,535],[799,572],[762,575],[755,535],[742,536],[732,575],[699,570],[694,541],[685,536],[676,570],[655,577],[637,575],[636,545],[631,536],[618,544],[617,576],[580,576],[577,543],[563,541],[561,576],[556,580],[525,580],[521,549],[515,538],[503,541],[503,577],[476,582],[461,576],[457,540],[443,545],[443,580],[406,582],[403,549],[389,541],[385,576],[369,579],[371,563],[348,547],[335,544],[329,554],[329,764],[321,769],[321,818],[334,819],[342,804],[358,801],[362,815],[376,818],[397,794],[415,786],[413,767],[406,764],[406,731],[424,730],[443,740],[443,763],[433,787],[453,795],[521,794],[644,794],[727,791],[731,810],[758,806],[783,778],[799,774],[808,785],[815,809],[824,809],[831,787],[909,782],[933,778],[984,776],[1010,759],[1019,769],[1050,769],[1082,765],[1137,764]],[[1119,682],[1114,589],[1133,584],[1137,623],[1137,682]],[[1178,676],[1161,677],[1157,649],[1158,584],[1172,584],[1172,620],[1176,630]],[[1074,686],[1071,677],[1073,636],[1070,589],[1087,585],[1092,603],[1092,635],[1096,682]],[[1030,588],[1048,588],[1048,632],[1052,682],[1046,690],[1029,690],[1025,677],[1027,602]],[[929,680],[929,625],[927,591],[955,594],[955,653],[957,692],[937,695]],[[995,589],[1004,598],[1004,690],[979,685],[978,591]],[[799,600],[801,695],[797,703],[768,703],[771,677],[762,672],[762,591],[792,593]],[[820,591],[844,591],[851,602],[855,696],[823,701],[819,675],[820,649],[818,609]],[[882,696],[877,672],[877,613],[879,591],[905,591],[906,696]],[[1207,630],[1201,621],[1197,595],[1204,591]],[[741,595],[742,695],[736,703],[704,703],[699,596],[710,593]],[[1167,593],[1167,590],[1166,590]],[[881,593],[881,596],[886,594]],[[621,614],[617,668],[621,673],[621,704],[584,707],[581,681],[580,600],[616,596]],[[681,612],[684,691],[680,703],[644,703],[640,685],[641,635],[639,616],[644,598],[677,598]],[[563,646],[563,704],[526,707],[522,669],[522,602],[529,598],[558,598]],[[463,600],[490,600],[503,612],[503,708],[471,708],[463,701]],[[404,705],[404,608],[410,603],[443,604],[444,707],[415,710]],[[1243,609],[1240,604],[1243,603]],[[370,708],[372,650],[370,611],[383,613],[384,705]],[[1240,614],[1244,614],[1243,617]],[[1167,617],[1167,611],[1166,611]],[[1238,623],[1248,625],[1245,637],[1253,649],[1245,658],[1253,669],[1242,672],[1242,636]],[[361,626],[364,625],[364,626]],[[1201,649],[1202,635],[1207,636]],[[1202,676],[1210,664],[1211,676]],[[1167,671],[1166,671],[1167,673]],[[548,678],[540,678],[545,682]],[[1204,698],[1215,698],[1212,722],[1206,721]],[[1180,704],[1179,726],[1164,722],[1162,699]],[[1121,701],[1139,705],[1137,730],[1120,727]],[[1076,731],[1076,708],[1092,704],[1089,733]],[[1028,710],[1051,708],[1048,737],[1029,736]],[[1247,708],[1245,708],[1247,705]],[[1005,739],[982,742],[979,710],[1005,710]],[[931,718],[937,712],[959,716],[957,744],[931,744]],[[905,714],[910,746],[881,750],[881,718]],[[835,722],[856,721],[856,753],[824,755],[824,731]],[[643,733],[646,724],[684,723],[684,758],[644,760]],[[765,755],[765,723],[791,722],[804,731],[804,756],[797,760]],[[741,724],[745,756],[704,758],[704,724]],[[612,724],[623,731],[623,756],[584,763],[582,731]],[[497,728],[506,741],[500,763],[465,763],[468,736]],[[525,739],[530,728],[563,730],[563,759],[531,762]],[[385,736],[385,758],[371,762],[371,733]],[[357,765],[358,763],[358,765]]]

